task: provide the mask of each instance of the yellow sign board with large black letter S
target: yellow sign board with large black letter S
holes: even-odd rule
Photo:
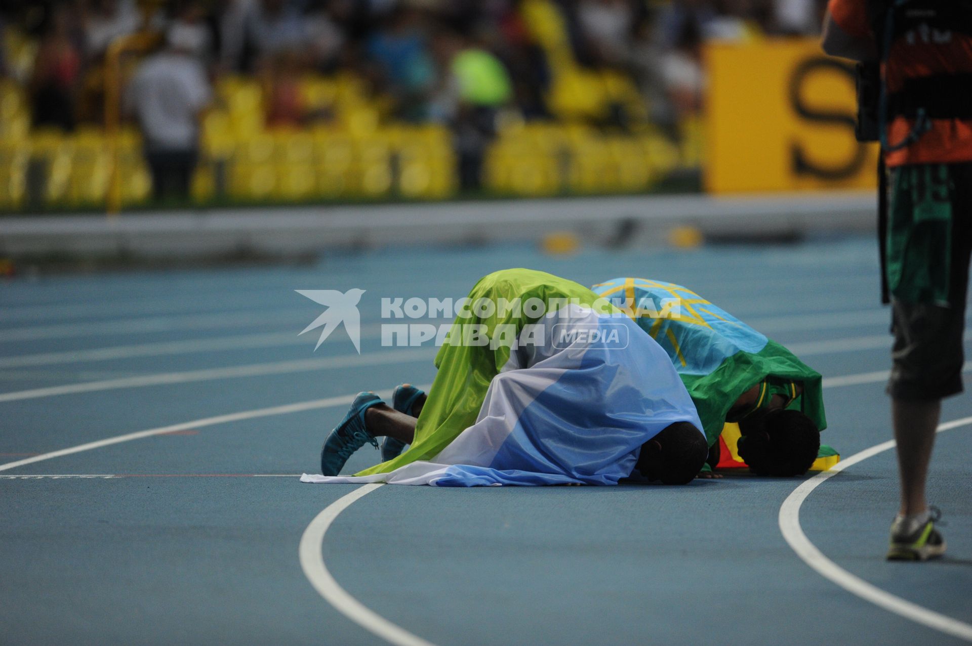
[[[876,188],[878,147],[854,139],[853,66],[816,39],[706,52],[706,189]]]

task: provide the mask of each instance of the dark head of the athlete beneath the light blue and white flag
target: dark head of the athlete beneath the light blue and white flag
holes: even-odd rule
[[[688,422],[677,422],[642,444],[637,468],[648,480],[685,485],[698,475],[707,455],[709,444],[702,431]]]

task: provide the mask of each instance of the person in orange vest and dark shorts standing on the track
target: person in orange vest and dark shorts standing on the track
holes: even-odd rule
[[[901,507],[889,560],[945,552],[925,499],[941,400],[962,391],[972,250],[972,3],[830,0],[823,49],[880,62],[875,139],[888,168],[884,276],[892,314],[887,385]]]

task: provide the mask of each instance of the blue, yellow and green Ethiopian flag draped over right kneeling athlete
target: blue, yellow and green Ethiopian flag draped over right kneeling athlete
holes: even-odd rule
[[[668,354],[695,402],[710,446],[719,441],[729,410],[756,385],[755,408],[780,393],[789,399],[787,408],[802,411],[820,430],[826,427],[820,374],[691,289],[643,278],[615,278],[593,289]],[[796,392],[798,384],[802,394]]]

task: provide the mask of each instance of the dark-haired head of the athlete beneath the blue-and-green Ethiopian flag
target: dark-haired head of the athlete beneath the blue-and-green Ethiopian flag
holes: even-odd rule
[[[739,455],[758,475],[798,476],[820,448],[820,431],[800,411],[774,410],[740,423]]]

